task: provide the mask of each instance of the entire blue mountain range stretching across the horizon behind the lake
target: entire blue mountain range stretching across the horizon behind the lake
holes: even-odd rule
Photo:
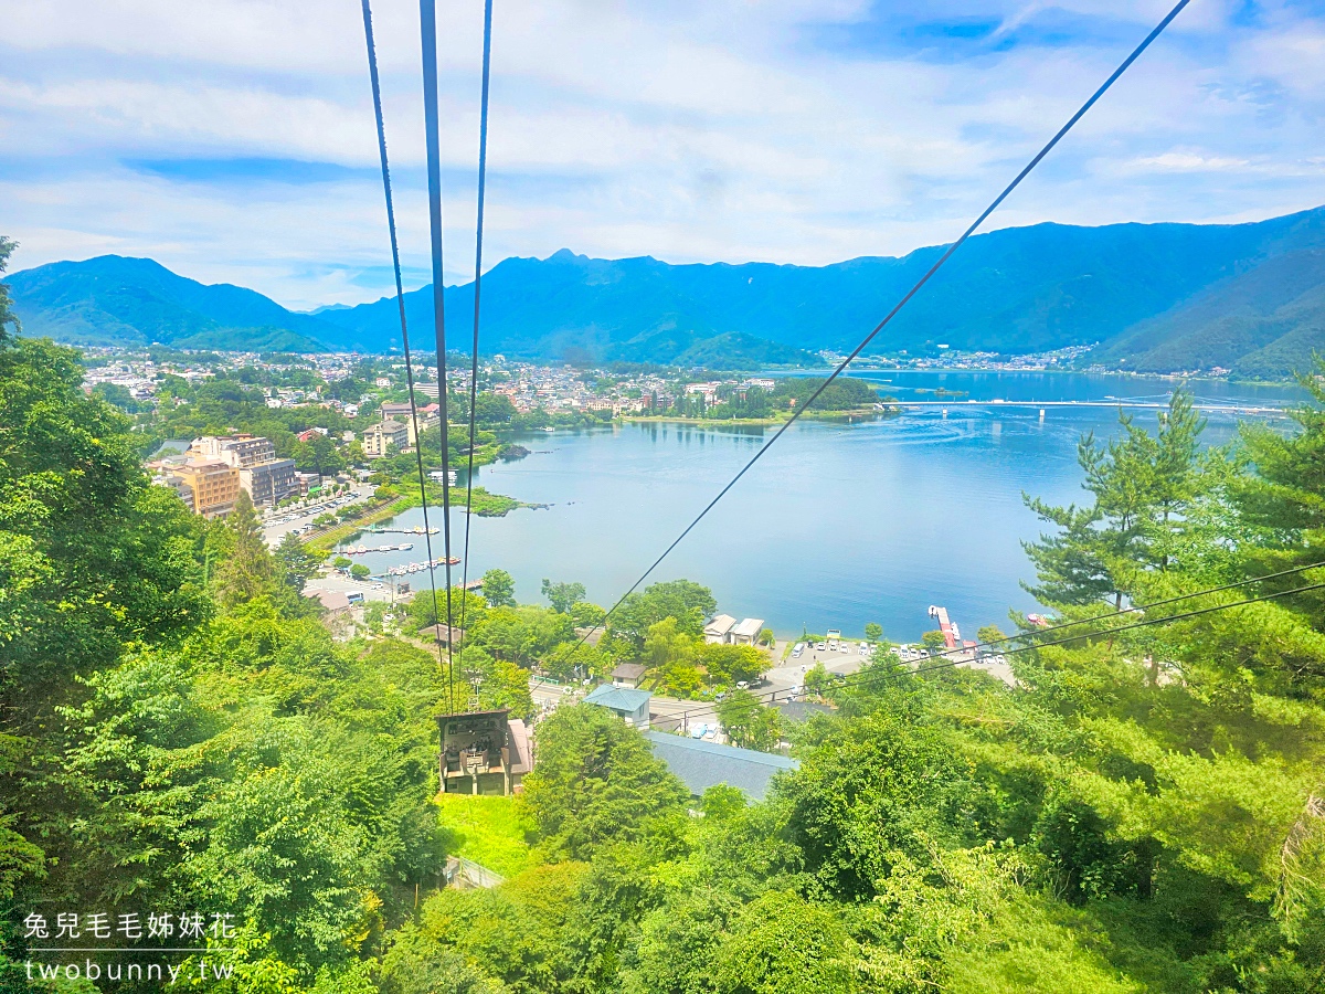
[[[669,265],[566,249],[507,258],[484,277],[484,350],[529,359],[677,364],[796,363],[845,350],[942,247],[827,266]],[[85,345],[399,347],[394,298],[298,314],[237,286],[205,286],[151,260],[103,256],[11,278],[24,330]],[[472,286],[445,294],[465,342]],[[432,342],[431,288],[405,296]],[[1236,225],[1040,224],[971,239],[872,351],[938,345],[999,354],[1100,343],[1122,368],[1231,368],[1280,376],[1325,351],[1325,208]]]

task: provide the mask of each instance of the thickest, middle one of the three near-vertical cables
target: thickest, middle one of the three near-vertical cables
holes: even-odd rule
[[[1186,0],[1183,0],[1186,3]],[[423,41],[423,118],[428,146],[428,229],[432,237],[432,319],[437,338],[437,407],[441,415],[441,534],[447,559],[447,693],[456,709],[456,660],[450,588],[450,432],[447,412],[447,311],[441,258],[441,151],[437,129],[437,0],[419,0]],[[429,570],[432,563],[429,563]],[[441,619],[439,618],[439,624]]]

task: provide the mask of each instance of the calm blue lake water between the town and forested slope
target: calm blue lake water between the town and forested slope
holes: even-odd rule
[[[1008,372],[864,372],[898,399],[959,391],[987,400],[1163,402],[1167,379]],[[1292,387],[1192,384],[1198,402],[1284,406]],[[664,561],[649,582],[685,577],[713,588],[721,611],[755,616],[782,635],[878,622],[893,639],[931,628],[930,604],[947,607],[966,637],[1002,623],[1008,608],[1035,610],[1019,587],[1032,579],[1022,541],[1039,534],[1023,493],[1083,498],[1076,445],[1086,431],[1117,431],[1116,408],[941,410],[853,423],[794,425]],[[1136,412],[1154,424],[1154,411]],[[1211,414],[1206,441],[1236,435],[1236,417]],[[1287,424],[1271,416],[1272,423]],[[469,577],[500,566],[517,596],[538,602],[539,582],[579,580],[608,606],[731,478],[771,429],[625,424],[517,439],[531,455],[476,470],[476,482],[550,504],[472,522]],[[433,517],[433,524],[437,522]],[[396,520],[421,522],[415,509]],[[460,554],[464,516],[453,522]],[[391,541],[364,537],[366,545]],[[405,539],[400,539],[405,541]],[[440,537],[435,554],[441,555]],[[374,571],[424,559],[408,553],[356,557]],[[460,582],[460,569],[454,582]],[[408,578],[415,587],[425,573]]]

